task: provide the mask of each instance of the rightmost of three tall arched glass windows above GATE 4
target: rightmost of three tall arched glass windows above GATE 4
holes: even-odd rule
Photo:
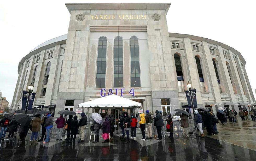
[[[139,40],[133,36],[130,39],[131,51],[131,87],[141,86],[141,76],[139,69]]]

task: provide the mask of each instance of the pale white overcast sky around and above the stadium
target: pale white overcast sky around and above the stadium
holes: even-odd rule
[[[37,45],[67,34],[70,14],[65,3],[171,3],[169,32],[191,34],[222,42],[239,51],[253,93],[255,84],[256,1],[97,1],[44,0],[1,1],[0,91],[12,101],[18,79],[18,63]]]

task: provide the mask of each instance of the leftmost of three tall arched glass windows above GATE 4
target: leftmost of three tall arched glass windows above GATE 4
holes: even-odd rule
[[[107,38],[100,37],[98,44],[96,88],[105,87],[106,79],[106,56],[107,56]]]

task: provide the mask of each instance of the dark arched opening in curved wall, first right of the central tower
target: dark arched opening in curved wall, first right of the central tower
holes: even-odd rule
[[[182,72],[182,66],[181,66],[181,57],[178,54],[174,54],[174,62],[175,62],[179,92],[184,92],[184,79],[183,79],[183,72]]]

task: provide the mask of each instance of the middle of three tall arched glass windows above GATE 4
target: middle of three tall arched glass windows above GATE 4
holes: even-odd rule
[[[123,39],[114,40],[114,87],[123,87]]]

